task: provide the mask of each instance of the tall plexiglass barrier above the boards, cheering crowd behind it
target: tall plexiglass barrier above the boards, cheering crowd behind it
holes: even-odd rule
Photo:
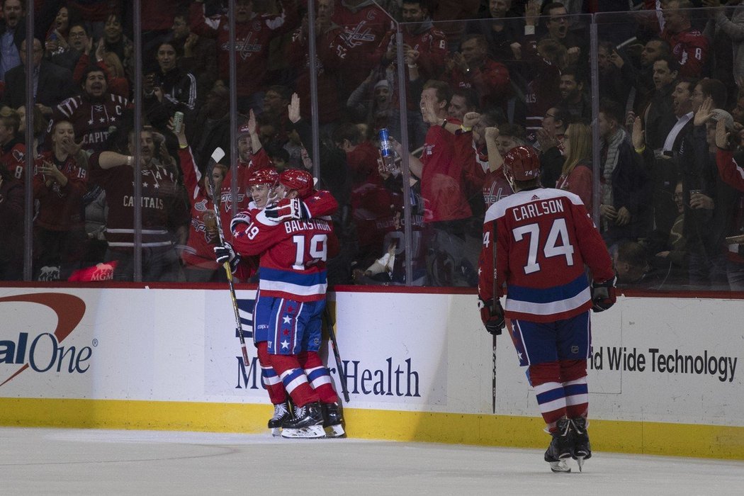
[[[332,285],[474,287],[527,145],[624,286],[743,287],[744,7],[110,3],[4,2],[0,280],[224,281],[220,231],[269,201],[273,167],[338,200]]]

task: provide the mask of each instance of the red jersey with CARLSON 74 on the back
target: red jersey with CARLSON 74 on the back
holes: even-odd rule
[[[584,265],[594,280],[615,272],[602,236],[581,199],[564,190],[521,190],[493,204],[484,219],[478,294],[493,296],[493,233],[496,287],[507,284],[507,318],[553,322],[591,309]]]

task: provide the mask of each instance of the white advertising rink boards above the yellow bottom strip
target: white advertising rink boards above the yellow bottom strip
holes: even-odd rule
[[[42,303],[19,301],[30,294]],[[57,342],[53,302],[60,294],[85,309]],[[239,299],[253,295],[238,292]],[[332,297],[350,407],[491,413],[491,338],[475,295]],[[57,311],[63,321],[75,320],[68,305]],[[268,402],[257,364],[240,366],[226,291],[3,288],[0,315],[0,397]],[[744,426],[743,301],[621,297],[592,319],[593,418]],[[618,365],[623,347],[626,360],[620,353]],[[660,360],[669,355],[674,364],[689,355],[692,370],[668,372]],[[506,334],[497,360],[496,413],[535,416],[525,369]],[[333,355],[329,365],[335,370]]]

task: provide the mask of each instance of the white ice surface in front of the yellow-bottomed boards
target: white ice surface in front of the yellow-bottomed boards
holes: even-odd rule
[[[414,442],[40,428],[0,442],[1,495],[744,494],[739,461],[595,453],[553,474],[538,450]]]

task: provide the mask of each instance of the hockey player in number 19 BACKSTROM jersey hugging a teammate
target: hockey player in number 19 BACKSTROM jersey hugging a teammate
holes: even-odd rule
[[[281,173],[276,192],[283,197],[278,204],[237,216],[234,249],[226,244],[215,253],[218,261],[231,263],[237,258],[233,250],[240,256],[260,255],[254,341],[275,405],[269,428],[283,427],[283,437],[324,437],[324,427],[329,435],[342,436],[338,396],[318,355],[325,260],[329,248],[337,251],[330,220],[318,216],[333,213],[338,203],[327,191],[315,191],[312,175],[304,170]],[[292,396],[295,419],[289,419],[280,384]]]

